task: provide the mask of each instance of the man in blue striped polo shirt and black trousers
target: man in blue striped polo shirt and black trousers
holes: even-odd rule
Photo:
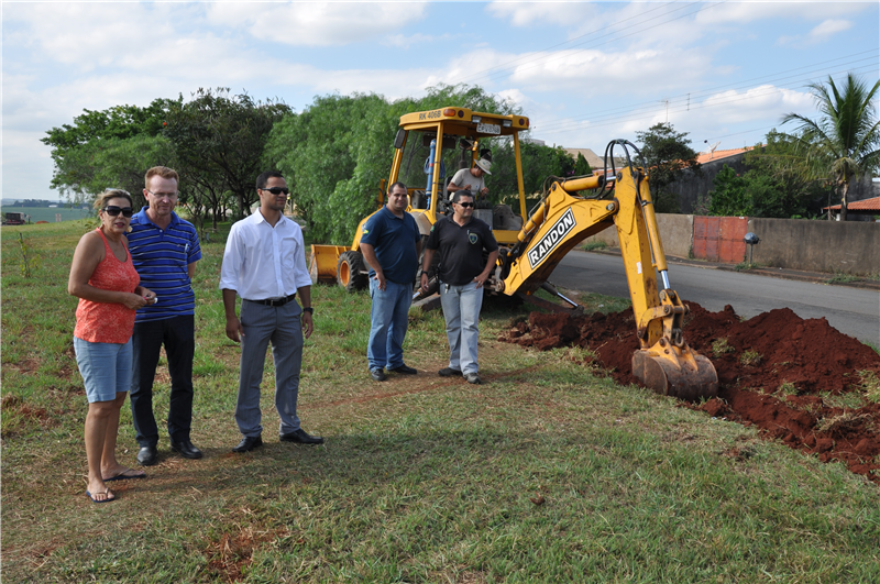
[[[200,459],[193,445],[193,355],[196,349],[196,295],[190,278],[201,258],[193,223],[184,221],[177,205],[177,173],[165,166],[146,172],[147,206],[131,218],[129,251],[141,285],[156,293],[158,301],[138,310],[132,349],[131,414],[138,443],[138,462],[158,460],[158,428],[153,417],[153,379],[160,351],[165,345],[172,390],[168,404],[170,448],[185,459]],[[147,285],[148,283],[148,285]]]

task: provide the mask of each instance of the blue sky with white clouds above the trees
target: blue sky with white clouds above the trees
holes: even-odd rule
[[[697,152],[752,145],[785,113],[818,115],[811,84],[880,78],[878,0],[0,0],[0,29],[3,198],[58,198],[40,139],[84,109],[199,88],[300,112],[333,92],[479,85],[532,139],[602,154],[658,122]]]

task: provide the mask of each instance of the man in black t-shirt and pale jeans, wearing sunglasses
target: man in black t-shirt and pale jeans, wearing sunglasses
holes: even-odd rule
[[[431,228],[422,258],[421,287],[428,289],[428,279],[433,276],[428,269],[433,254],[439,253],[440,301],[450,350],[449,366],[439,374],[443,377],[464,375],[468,383],[479,384],[476,342],[482,288],[495,267],[498,244],[490,227],[473,217],[474,196],[470,190],[455,191],[452,209],[452,217],[438,219]],[[485,262],[484,250],[488,252]]]

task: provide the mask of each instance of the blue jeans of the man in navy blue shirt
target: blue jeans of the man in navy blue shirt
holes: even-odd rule
[[[370,278],[370,296],[373,298],[370,342],[366,344],[370,371],[399,367],[404,364],[404,338],[409,326],[413,285],[385,280],[385,289],[380,290],[378,280]]]

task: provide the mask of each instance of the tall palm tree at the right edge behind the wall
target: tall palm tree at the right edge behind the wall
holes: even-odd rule
[[[810,85],[822,114],[816,121],[789,113],[782,123],[801,122],[795,137],[806,148],[806,158],[817,176],[831,169],[840,189],[840,220],[846,221],[846,195],[853,178],[873,172],[880,163],[880,122],[873,99],[880,80],[868,87],[851,73],[840,90],[828,76],[826,84]],[[829,168],[831,167],[831,168]]]

